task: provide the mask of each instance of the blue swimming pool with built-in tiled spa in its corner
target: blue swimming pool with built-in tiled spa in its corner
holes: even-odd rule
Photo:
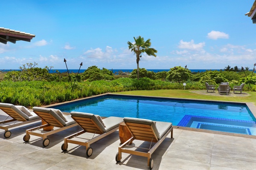
[[[63,112],[136,117],[172,122],[176,126],[256,135],[256,119],[245,103],[106,94],[54,108]]]

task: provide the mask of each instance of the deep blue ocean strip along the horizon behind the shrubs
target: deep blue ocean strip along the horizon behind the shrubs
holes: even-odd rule
[[[108,69],[108,70],[113,71],[114,74],[118,74],[118,71],[131,73],[134,69]],[[170,71],[170,69],[146,69],[146,70],[154,71],[155,73],[161,72],[161,71]],[[220,71],[220,69],[189,69],[189,70],[192,73],[205,72],[207,70]],[[17,69],[17,70],[0,70],[0,71],[20,71],[20,70]],[[53,70],[50,70],[50,73],[56,73],[57,71],[59,71],[60,73],[65,73],[65,72],[67,72],[67,69],[53,69]],[[79,69],[69,69],[70,73],[78,73],[78,71],[79,71]],[[84,71],[86,71],[86,69],[80,69],[79,73],[83,73]],[[253,71],[253,70],[249,70],[249,71]]]

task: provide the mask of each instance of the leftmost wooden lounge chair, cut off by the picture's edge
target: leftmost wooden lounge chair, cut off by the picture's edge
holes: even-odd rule
[[[41,120],[39,116],[37,116],[34,112],[30,112],[24,106],[0,103],[0,109],[9,115],[4,121],[0,122],[0,129],[5,130],[3,134],[5,138],[9,138],[12,135],[9,128]],[[12,119],[8,119],[9,117]]]

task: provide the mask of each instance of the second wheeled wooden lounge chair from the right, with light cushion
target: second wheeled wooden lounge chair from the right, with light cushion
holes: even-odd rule
[[[121,117],[111,116],[105,119],[101,119],[100,116],[94,115],[92,113],[71,112],[70,114],[71,117],[80,125],[83,130],[65,137],[64,143],[61,145],[61,150],[67,150],[68,143],[79,144],[86,147],[86,155],[88,157],[93,154],[93,149],[90,147],[90,144],[115,132],[116,130],[118,130],[119,123],[123,122],[123,118]],[[85,139],[79,136],[86,132],[94,133],[94,135],[99,135],[96,137],[94,137],[93,135],[92,139]],[[80,139],[80,141],[74,140],[76,137],[77,139]]]

